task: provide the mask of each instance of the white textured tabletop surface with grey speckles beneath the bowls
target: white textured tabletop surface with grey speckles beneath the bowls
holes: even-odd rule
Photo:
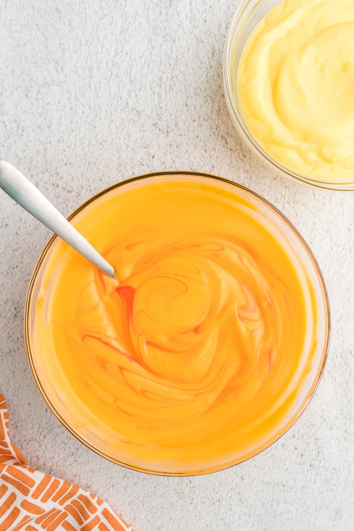
[[[49,232],[0,195],[0,389],[29,464],[106,499],[136,531],[353,529],[353,199],[274,176],[232,126],[222,48],[226,0],[3,0],[0,158],[68,215],[103,187],[165,169],[244,183],[312,247],[329,290],[332,343],[299,421],[218,474],[162,478],[115,466],[48,411],[23,341],[25,293]]]

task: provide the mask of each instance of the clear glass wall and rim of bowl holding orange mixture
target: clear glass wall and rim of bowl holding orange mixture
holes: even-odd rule
[[[111,193],[115,193],[115,190],[120,186],[126,186],[128,184],[131,185],[132,183],[136,181],[141,181],[142,179],[154,179],[162,176],[174,178],[187,177],[190,179],[216,179],[217,181],[225,183],[227,186],[235,186],[238,190],[238,193],[244,195],[248,200],[251,200],[257,210],[263,211],[266,216],[270,218],[271,222],[273,224],[276,224],[277,229],[281,230],[282,236],[284,236],[284,238],[286,238],[287,241],[291,243],[293,250],[297,253],[297,256],[299,256],[299,259],[304,264],[304,267],[306,268],[308,275],[313,282],[315,298],[318,306],[318,342],[314,356],[314,363],[312,369],[307,375],[304,387],[301,389],[293,409],[288,415],[288,418],[286,418],[286,420],[282,424],[281,428],[277,432],[272,433],[271,436],[267,438],[261,446],[253,448],[251,452],[247,453],[247,455],[235,456],[235,459],[232,459],[227,463],[220,463],[217,466],[213,466],[207,469],[180,470],[176,469],[176,467],[170,469],[162,469],[159,466],[156,466],[155,468],[142,467],[137,463],[122,462],[122,458],[120,458],[119,455],[114,455],[114,453],[110,453],[110,455],[107,455],[107,453],[102,450],[102,441],[100,441],[98,436],[96,436],[95,439],[94,434],[91,434],[90,437],[84,435],[82,432],[82,426],[77,426],[75,425],[75,423],[71,422],[70,412],[68,412],[68,410],[66,410],[60,402],[58,404],[56,390],[54,388],[55,386],[53,386],[50,381],[47,381],[47,379],[43,379],[39,376],[40,371],[38,371],[38,367],[40,359],[43,359],[46,353],[37,352],[38,349],[36,350],[36,348],[33,347],[32,331],[41,278],[46,267],[46,262],[50,257],[51,250],[53,249],[53,246],[56,243],[57,236],[55,235],[50,238],[49,242],[42,251],[30,280],[24,312],[25,346],[33,378],[36,381],[36,384],[42,397],[45,399],[48,407],[58,418],[58,420],[66,427],[68,431],[70,431],[70,433],[72,433],[76,437],[76,439],[81,441],[85,446],[87,446],[94,452],[97,452],[102,457],[113,461],[114,463],[135,470],[140,470],[141,472],[170,476],[206,474],[230,467],[232,465],[236,465],[250,457],[255,456],[257,453],[269,447],[270,444],[279,439],[279,437],[283,435],[290,428],[290,426],[299,418],[301,413],[303,413],[305,407],[308,405],[310,399],[314,395],[314,392],[318,386],[318,382],[321,379],[324,370],[324,365],[326,362],[330,341],[329,301],[322,273],[320,271],[320,268],[318,267],[316,259],[313,253],[310,251],[307,243],[304,241],[303,237],[301,237],[301,235],[298,233],[297,229],[291,224],[291,222],[277,208],[275,208],[271,203],[263,199],[257,193],[247,189],[245,186],[234,183],[232,181],[228,181],[227,179],[223,179],[221,177],[195,172],[159,172],[141,175],[139,177],[134,177],[132,179],[127,179],[126,181],[114,184],[106,190],[103,190],[102,192],[99,192],[98,194],[94,195],[91,199],[89,199],[88,201],[83,203],[79,208],[77,208],[68,217],[68,219],[72,221],[73,225],[75,225],[75,218],[77,217],[77,220],[80,219],[80,212],[87,208],[88,205],[91,205],[94,201],[99,200],[100,198],[102,198],[102,196],[108,196]],[[54,405],[54,403],[56,403],[56,405]]]

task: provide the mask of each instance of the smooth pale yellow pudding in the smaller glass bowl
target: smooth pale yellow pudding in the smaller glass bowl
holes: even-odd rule
[[[269,155],[318,181],[353,180],[354,0],[286,0],[241,55],[245,123]]]

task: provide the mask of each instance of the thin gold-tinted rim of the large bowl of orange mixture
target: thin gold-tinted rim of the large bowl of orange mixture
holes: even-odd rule
[[[191,171],[184,172],[183,170],[175,170],[175,171],[166,171],[166,172],[146,173],[146,174],[138,175],[136,177],[131,177],[131,178],[128,178],[128,179],[124,179],[123,181],[120,181],[120,182],[115,183],[115,184],[113,184],[111,186],[108,186],[107,188],[101,190],[97,194],[92,195],[91,198],[89,198],[87,201],[84,201],[79,207],[77,207],[67,217],[67,219],[69,221],[71,221],[79,212],[81,212],[88,205],[90,205],[91,203],[93,203],[94,201],[99,199],[102,195],[105,195],[105,194],[107,194],[107,193],[119,188],[120,186],[124,186],[126,184],[133,183],[135,181],[143,181],[144,179],[148,179],[148,178],[151,178],[151,177],[162,177],[162,176],[166,176],[166,177],[170,177],[170,176],[181,176],[181,177],[182,176],[186,176],[186,177],[204,177],[204,178],[206,177],[206,178],[214,179],[215,181],[220,181],[220,182],[226,183],[228,185],[235,186],[237,189],[239,189],[239,190],[241,190],[243,192],[246,192],[247,194],[251,195],[253,199],[256,199],[256,200],[260,201],[261,203],[266,205],[266,207],[269,207],[275,214],[277,214],[281,218],[281,220],[288,226],[288,228],[291,230],[291,232],[293,234],[295,234],[296,238],[298,239],[298,241],[300,242],[300,244],[303,246],[304,250],[308,254],[310,262],[312,263],[313,268],[315,270],[315,273],[317,275],[318,282],[319,282],[319,285],[321,287],[321,292],[322,292],[322,296],[323,296],[324,315],[325,315],[325,338],[324,338],[324,346],[323,346],[321,362],[320,362],[320,364],[318,366],[318,370],[317,370],[317,373],[315,375],[314,381],[313,381],[312,386],[310,387],[306,397],[304,398],[302,404],[298,407],[296,412],[292,414],[290,419],[282,426],[282,428],[280,430],[278,430],[277,433],[275,433],[261,448],[257,448],[255,450],[255,452],[252,453],[251,456],[249,456],[249,457],[247,457],[245,459],[241,459],[241,460],[235,459],[234,461],[228,461],[227,463],[221,464],[221,465],[219,465],[217,467],[209,467],[209,468],[206,468],[206,469],[199,469],[199,470],[193,470],[193,471],[186,470],[186,471],[181,471],[181,472],[169,472],[168,470],[144,468],[142,466],[137,466],[137,465],[134,465],[134,464],[123,463],[122,461],[119,461],[118,459],[115,459],[115,458],[107,455],[106,453],[102,452],[98,448],[95,448],[94,446],[92,446],[92,444],[90,444],[89,442],[85,441],[78,433],[75,432],[75,430],[69,424],[66,423],[66,421],[64,420],[64,418],[62,418],[61,414],[56,410],[54,405],[51,404],[50,399],[46,395],[46,391],[45,391],[44,387],[42,386],[42,383],[41,383],[41,381],[40,381],[40,379],[38,377],[38,374],[37,374],[37,371],[36,371],[36,367],[35,367],[34,361],[33,361],[32,351],[31,351],[31,341],[30,341],[30,333],[31,333],[30,332],[30,330],[31,330],[30,312],[31,312],[31,304],[32,304],[31,295],[32,295],[33,288],[36,285],[37,276],[38,276],[38,273],[39,273],[39,271],[41,269],[41,265],[43,264],[44,260],[46,259],[46,256],[47,256],[48,252],[50,251],[50,248],[53,245],[55,239],[58,237],[56,234],[53,234],[50,237],[50,239],[46,243],[44,249],[42,250],[42,252],[41,252],[41,254],[39,256],[39,259],[38,259],[38,261],[36,263],[36,266],[34,267],[34,270],[32,272],[31,279],[30,279],[30,282],[29,282],[27,295],[26,295],[26,299],[25,299],[25,307],[24,307],[24,340],[25,340],[25,349],[26,349],[27,358],[28,358],[28,362],[29,362],[29,365],[30,365],[30,369],[31,369],[31,373],[32,373],[33,379],[36,382],[38,390],[39,390],[42,398],[46,402],[47,406],[49,407],[51,413],[53,413],[54,416],[58,419],[58,421],[61,422],[61,424],[65,427],[65,429],[68,432],[70,432],[75,437],[75,439],[80,441],[85,447],[89,448],[90,450],[92,450],[93,452],[97,453],[99,456],[107,459],[108,461],[111,461],[112,463],[115,463],[117,465],[123,466],[125,468],[136,470],[137,472],[143,472],[143,473],[146,473],[146,474],[152,474],[152,475],[158,475],[158,476],[176,476],[176,477],[197,476],[197,475],[203,475],[203,474],[210,474],[210,473],[214,473],[214,472],[219,472],[220,470],[225,470],[227,468],[231,468],[232,466],[236,466],[236,465],[239,465],[241,463],[244,463],[248,459],[252,459],[256,455],[261,453],[263,450],[265,450],[266,448],[269,448],[274,442],[278,441],[278,439],[280,439],[280,437],[282,435],[284,435],[284,433],[286,433],[290,429],[290,427],[293,424],[295,424],[295,422],[298,420],[298,418],[303,414],[303,412],[306,409],[306,407],[308,406],[309,402],[312,400],[312,398],[314,396],[314,393],[315,393],[315,391],[316,391],[316,389],[318,387],[318,384],[320,383],[320,380],[322,378],[322,374],[323,374],[323,371],[324,371],[324,367],[325,367],[325,364],[326,364],[326,361],[327,361],[327,356],[328,356],[328,353],[329,353],[330,336],[331,336],[330,303],[329,303],[329,297],[328,297],[328,294],[327,294],[327,289],[326,289],[326,285],[325,285],[325,282],[324,282],[324,278],[323,278],[320,266],[318,265],[317,260],[316,260],[316,258],[314,256],[313,252],[311,251],[310,247],[308,246],[307,242],[305,241],[303,236],[301,236],[301,234],[299,233],[297,228],[292,224],[292,222],[283,214],[283,212],[281,212],[281,210],[279,210],[277,207],[275,207],[275,205],[273,205],[270,201],[267,201],[265,198],[263,198],[262,195],[260,195],[257,192],[249,189],[247,186],[244,186],[244,185],[242,185],[240,183],[237,183],[235,181],[230,181],[230,179],[227,179],[227,178],[224,178],[224,177],[220,177],[218,175],[213,175],[213,174],[208,174],[208,173],[203,173],[203,172],[191,172]]]

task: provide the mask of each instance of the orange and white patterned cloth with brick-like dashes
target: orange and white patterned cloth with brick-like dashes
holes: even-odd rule
[[[100,498],[26,464],[0,394],[0,531],[133,531]]]

